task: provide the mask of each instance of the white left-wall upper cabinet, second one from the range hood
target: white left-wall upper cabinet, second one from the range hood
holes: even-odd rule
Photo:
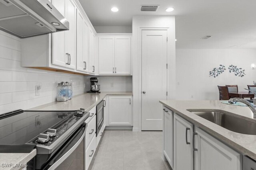
[[[76,16],[76,70],[89,70],[89,25],[77,10]]]

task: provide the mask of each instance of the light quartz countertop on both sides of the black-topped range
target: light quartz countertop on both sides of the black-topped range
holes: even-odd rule
[[[44,104],[42,106],[34,107],[29,110],[78,110],[84,108],[86,111],[92,109],[106,96],[132,96],[132,92],[101,92],[83,93],[74,96],[71,100],[66,102],[52,102]],[[19,170],[16,167],[2,167],[2,163],[6,164],[25,164],[36,156],[36,149],[33,149],[30,153],[0,153],[0,169],[1,170]]]

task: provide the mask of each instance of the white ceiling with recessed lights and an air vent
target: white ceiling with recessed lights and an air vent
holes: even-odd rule
[[[256,0],[79,0],[94,26],[132,26],[134,15],[175,15],[176,48],[256,49]],[[141,12],[141,5],[160,5]],[[116,6],[119,11],[110,9]],[[166,12],[174,7],[173,12]],[[211,35],[209,39],[200,39]]]

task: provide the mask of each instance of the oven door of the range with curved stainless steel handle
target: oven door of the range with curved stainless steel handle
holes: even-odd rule
[[[83,123],[66,143],[46,162],[43,170],[84,170],[84,144],[87,124]]]

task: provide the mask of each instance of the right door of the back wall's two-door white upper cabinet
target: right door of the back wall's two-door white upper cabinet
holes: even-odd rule
[[[115,74],[131,74],[131,37],[115,38]]]

